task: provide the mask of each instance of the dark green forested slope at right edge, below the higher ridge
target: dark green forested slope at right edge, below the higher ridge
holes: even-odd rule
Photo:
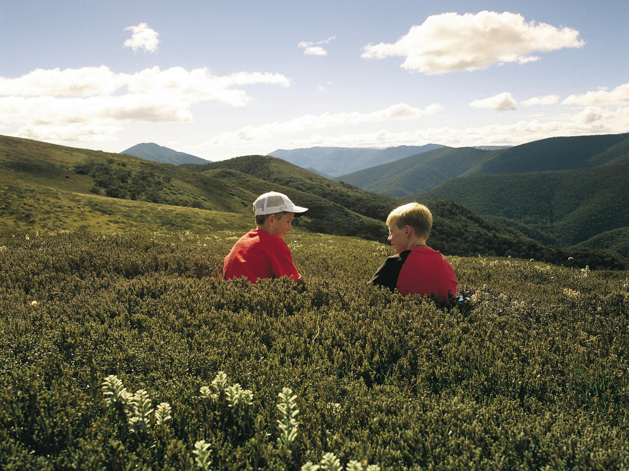
[[[629,163],[598,168],[461,177],[418,195],[542,230],[567,246],[629,226]]]

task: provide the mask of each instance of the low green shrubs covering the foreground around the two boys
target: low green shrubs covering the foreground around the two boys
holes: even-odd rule
[[[453,257],[472,299],[440,310],[368,286],[391,247],[359,239],[291,234],[303,284],[223,281],[238,235],[0,239],[0,467],[629,467],[628,272]],[[203,397],[218,371],[250,404]]]

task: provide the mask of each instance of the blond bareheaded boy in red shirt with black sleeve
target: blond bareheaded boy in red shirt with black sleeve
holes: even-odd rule
[[[426,246],[432,214],[420,203],[395,208],[387,217],[388,241],[396,255],[377,269],[369,283],[387,286],[402,295],[430,295],[447,299],[457,294],[457,276],[440,252]]]

